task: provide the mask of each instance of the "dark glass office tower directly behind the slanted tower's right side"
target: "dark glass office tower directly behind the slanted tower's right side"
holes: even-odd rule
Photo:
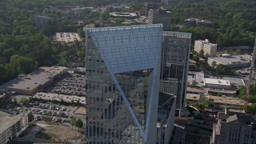
[[[163,32],[160,91],[176,96],[178,114],[186,113],[186,84],[190,56],[190,33]]]

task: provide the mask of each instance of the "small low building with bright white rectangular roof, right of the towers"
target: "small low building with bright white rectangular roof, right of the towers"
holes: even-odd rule
[[[216,78],[205,78],[205,87],[230,90],[230,81]]]

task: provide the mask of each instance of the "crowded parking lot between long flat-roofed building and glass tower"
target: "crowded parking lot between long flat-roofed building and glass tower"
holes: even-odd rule
[[[59,81],[48,86],[48,90],[55,94],[86,96],[86,76],[68,73]]]

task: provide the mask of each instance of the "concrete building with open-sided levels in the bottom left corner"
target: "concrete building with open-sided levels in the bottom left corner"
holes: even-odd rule
[[[27,126],[27,115],[10,115],[0,111],[0,143],[7,143],[18,137]]]

